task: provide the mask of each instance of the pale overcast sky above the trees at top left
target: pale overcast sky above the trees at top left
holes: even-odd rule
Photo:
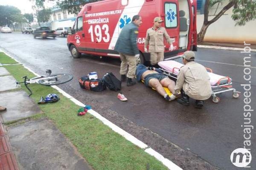
[[[0,0],[0,5],[15,6],[20,9],[22,14],[33,13],[32,3],[29,0]],[[52,3],[45,3],[46,7],[52,7]]]

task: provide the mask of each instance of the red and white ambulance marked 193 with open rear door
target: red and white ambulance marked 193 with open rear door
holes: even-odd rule
[[[67,37],[67,46],[74,58],[81,53],[119,57],[114,51],[122,28],[134,15],[142,17],[137,38],[140,63],[146,64],[150,55],[144,52],[145,35],[153,26],[154,17],[161,17],[173,47],[164,43],[165,59],[179,56],[187,50],[197,50],[196,0],[102,0],[88,3],[79,12]]]

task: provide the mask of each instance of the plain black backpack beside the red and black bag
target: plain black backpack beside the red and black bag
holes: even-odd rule
[[[106,73],[103,76],[103,82],[104,84],[113,91],[119,91],[121,90],[121,81],[117,79],[112,72]]]

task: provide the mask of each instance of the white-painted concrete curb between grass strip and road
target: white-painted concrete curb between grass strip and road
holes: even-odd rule
[[[1,49],[0,49],[1,52]],[[9,57],[11,57],[12,59],[14,59],[12,57],[11,54],[8,54],[5,51],[2,51],[4,53],[6,53]],[[16,62],[16,59],[14,59]],[[20,63],[20,62],[19,62]],[[22,63],[21,63],[22,64]],[[23,64],[22,64],[23,65]],[[26,68],[27,70],[29,70],[30,72],[32,72],[33,74],[35,74],[36,76],[39,76],[39,74],[35,73],[34,71],[32,71],[30,68],[26,67],[25,65],[23,65],[24,68]],[[70,99],[72,102],[74,102],[76,105],[79,105],[81,107],[84,107],[85,105],[83,103],[81,103],[79,100],[75,99],[74,97],[72,97],[71,95],[67,94],[65,91],[63,91],[61,88],[58,88],[56,85],[52,85],[52,88],[55,88],[58,92],[60,92],[61,94],[63,94],[65,97],[67,97],[68,99]],[[160,153],[156,152],[155,150],[153,150],[152,148],[148,147],[147,144],[143,143],[142,141],[140,141],[139,139],[135,138],[134,136],[132,136],[130,133],[126,132],[125,130],[121,129],[120,127],[116,126],[115,124],[113,124],[112,122],[110,122],[108,119],[105,119],[103,116],[101,116],[99,113],[97,113],[96,111],[93,111],[93,109],[88,110],[88,113],[90,113],[91,115],[95,116],[97,119],[99,119],[100,121],[103,122],[103,124],[107,125],[108,127],[110,127],[113,131],[115,131],[116,133],[120,134],[121,136],[123,136],[125,139],[127,139],[128,141],[130,141],[131,143],[137,145],[138,147],[140,147],[141,149],[143,149],[146,153],[148,153],[151,156],[154,156],[158,161],[162,162],[166,167],[168,167],[170,170],[182,170],[182,168],[180,168],[179,166],[177,166],[175,163],[173,163],[172,161],[170,161],[169,159],[164,158]]]

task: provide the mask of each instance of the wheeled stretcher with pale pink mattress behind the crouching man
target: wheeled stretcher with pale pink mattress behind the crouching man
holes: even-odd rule
[[[177,79],[177,75],[179,73],[180,67],[183,64],[176,62],[174,60],[161,61],[158,62],[159,68],[163,71],[163,74],[166,74],[169,77]],[[233,91],[233,97],[238,98],[239,93],[235,88],[232,87],[232,79],[230,77],[224,77],[218,74],[212,73],[210,68],[206,68],[210,77],[210,84],[212,87],[212,102],[218,103],[220,98],[216,96],[216,94],[224,93],[227,91]]]

